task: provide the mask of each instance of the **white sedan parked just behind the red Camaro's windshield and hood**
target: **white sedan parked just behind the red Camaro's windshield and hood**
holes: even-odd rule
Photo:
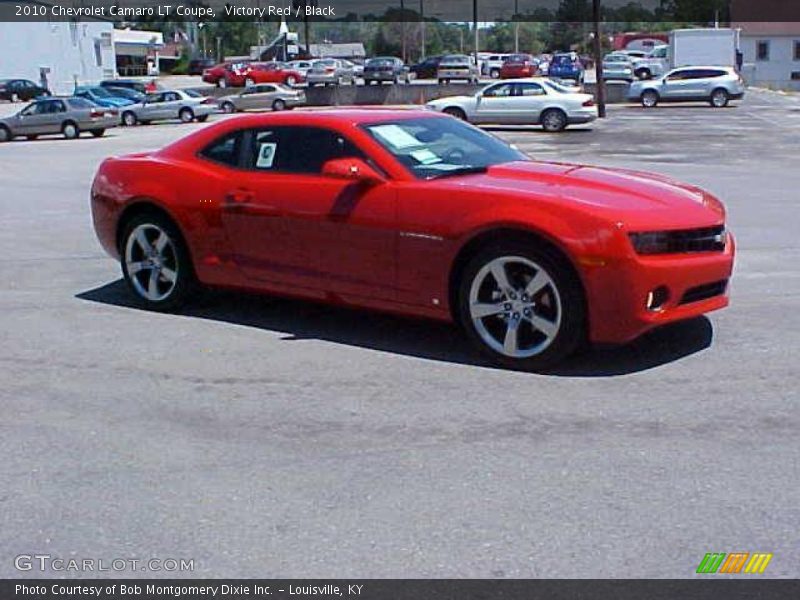
[[[427,107],[470,123],[541,125],[545,131],[562,131],[567,125],[597,118],[591,94],[574,92],[545,78],[508,79],[472,96],[433,100]]]

